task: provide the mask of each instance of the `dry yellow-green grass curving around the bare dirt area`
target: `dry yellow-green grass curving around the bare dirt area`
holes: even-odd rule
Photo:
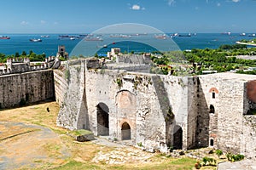
[[[46,108],[49,107],[49,112]],[[104,162],[96,164],[92,159],[99,151],[108,152],[114,150],[107,146],[93,144],[92,142],[79,143],[73,141],[67,135],[68,130],[56,127],[56,117],[59,111],[59,106],[55,102],[49,102],[39,105],[29,105],[22,108],[9,109],[0,111],[0,122],[24,122],[27,124],[37,124],[51,128],[55,133],[59,134],[61,143],[48,144],[45,150],[49,152],[49,159],[58,159],[61,148],[67,148],[71,153],[64,161],[56,161],[49,163],[41,160],[36,160],[40,163],[37,169],[192,169],[195,165],[195,159],[182,158],[173,159],[156,154],[151,157],[148,162],[132,162],[125,165],[107,165]],[[0,127],[1,128],[1,127]],[[0,141],[1,144],[1,141]],[[30,167],[20,167],[20,169],[29,169]],[[210,169],[214,169],[211,167]]]

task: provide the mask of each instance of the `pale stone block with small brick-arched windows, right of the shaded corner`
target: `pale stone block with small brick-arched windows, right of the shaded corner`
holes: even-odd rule
[[[240,153],[244,82],[224,74],[201,76],[200,82],[200,141],[208,138],[212,147]]]

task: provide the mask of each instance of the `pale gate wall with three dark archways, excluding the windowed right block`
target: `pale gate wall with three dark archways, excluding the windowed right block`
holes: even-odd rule
[[[96,135],[119,140],[129,134],[132,144],[157,149],[160,144],[172,146],[175,138],[180,149],[195,147],[193,77],[83,68],[78,71],[80,66],[68,68],[70,81],[57,120],[59,126],[87,128]],[[125,123],[129,125],[128,133],[124,131]]]

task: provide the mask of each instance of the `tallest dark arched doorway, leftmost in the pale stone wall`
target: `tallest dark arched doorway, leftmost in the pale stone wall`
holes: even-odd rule
[[[108,105],[99,103],[97,108],[97,134],[102,136],[109,135],[109,109]]]

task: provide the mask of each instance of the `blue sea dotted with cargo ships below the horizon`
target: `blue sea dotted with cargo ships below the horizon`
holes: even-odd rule
[[[44,35],[45,34],[5,34],[3,36],[8,36],[10,39],[0,39],[0,53],[9,55],[15,54],[16,52],[21,54],[23,51],[25,51],[28,54],[32,50],[36,54],[46,54],[46,56],[49,56],[57,53],[59,45],[64,45],[67,53],[79,55],[79,53],[83,53],[74,49],[77,49],[78,47],[84,48],[84,45],[87,45],[86,43],[84,44],[85,41],[82,38],[71,40],[69,37],[59,37],[59,34],[48,34],[49,37],[41,37]],[[249,33],[247,33],[246,36],[241,36],[239,33],[231,33],[230,35],[221,33],[197,33],[192,34],[191,37],[171,37],[168,38],[168,40],[160,40],[154,38],[153,36],[147,35],[133,38],[123,38],[122,40],[108,37],[108,41],[105,41],[107,36],[104,37],[101,35],[102,41],[92,41],[93,46],[95,46],[96,49],[94,49],[94,51],[91,53],[95,53],[96,50],[97,54],[106,54],[108,51],[110,51],[110,48],[121,48],[122,52],[151,52],[158,50],[160,47],[169,45],[172,46],[173,43],[175,44],[175,49],[180,50],[192,48],[218,48],[222,44],[235,44],[236,41],[241,39],[256,38],[248,37],[248,35]],[[79,34],[68,34],[68,36],[79,37]],[[29,41],[29,39],[32,38],[40,38],[42,39],[42,42]],[[137,41],[136,38],[138,38],[139,41]],[[172,50],[172,48],[170,49]],[[90,48],[85,47],[84,51],[90,51]]]

